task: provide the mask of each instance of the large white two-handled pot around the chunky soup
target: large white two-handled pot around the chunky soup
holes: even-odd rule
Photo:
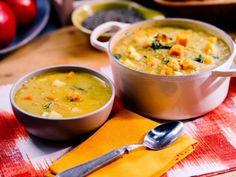
[[[133,70],[121,64],[112,55],[112,48],[129,31],[140,26],[179,26],[203,30],[221,38],[230,48],[229,58],[220,66],[202,73],[183,76],[163,76]],[[120,29],[109,42],[98,37],[114,27]],[[230,77],[236,70],[230,69],[235,57],[235,44],[222,30],[189,19],[148,20],[133,25],[108,22],[97,27],[91,35],[91,44],[109,55],[118,94],[129,109],[153,118],[187,119],[203,115],[225,99]]]

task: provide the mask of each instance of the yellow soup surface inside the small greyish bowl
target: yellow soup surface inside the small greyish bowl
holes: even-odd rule
[[[66,118],[93,112],[110,97],[110,86],[94,75],[50,72],[24,83],[16,92],[15,103],[34,115]]]

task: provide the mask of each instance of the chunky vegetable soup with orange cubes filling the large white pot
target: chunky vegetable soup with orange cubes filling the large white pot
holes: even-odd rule
[[[194,74],[210,70],[230,54],[219,38],[203,31],[176,27],[140,27],[112,49],[124,65],[161,75]]]

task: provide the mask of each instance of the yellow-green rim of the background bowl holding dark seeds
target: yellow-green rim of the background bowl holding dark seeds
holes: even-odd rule
[[[97,5],[103,5],[104,6],[104,5],[107,5],[107,4],[114,4],[114,3],[115,4],[126,5],[127,7],[130,6],[130,7],[134,8],[134,9],[146,9],[146,10],[150,10],[150,11],[153,11],[153,12],[155,11],[156,13],[159,14],[158,17],[165,18],[165,15],[162,12],[160,12],[158,10],[153,10],[153,9],[147,8],[147,7],[145,7],[145,6],[143,6],[143,5],[139,4],[139,3],[136,3],[136,2],[119,1],[119,0],[107,0],[107,1],[91,2],[89,4],[83,4],[83,5],[79,6],[79,7],[77,7],[76,9],[74,9],[73,12],[72,12],[72,15],[71,15],[72,24],[77,29],[79,29],[79,30],[83,31],[84,33],[90,35],[93,30],[90,30],[90,29],[84,27],[81,22],[77,23],[77,16],[81,13],[81,11],[83,11],[86,8],[90,8],[90,7],[97,6]],[[102,9],[104,9],[104,7]],[[94,12],[91,15],[93,15],[93,14],[94,14]],[[145,18],[145,19],[147,20],[148,18]],[[112,34],[104,33],[102,36],[103,37],[111,37]]]

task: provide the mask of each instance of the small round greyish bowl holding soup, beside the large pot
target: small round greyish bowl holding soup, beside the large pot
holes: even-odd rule
[[[72,118],[44,118],[30,114],[19,108],[14,101],[14,96],[17,90],[21,88],[22,84],[34,76],[52,71],[75,71],[92,74],[109,84],[112,90],[112,95],[107,103],[96,111]],[[10,102],[13,112],[26,130],[40,138],[54,141],[76,138],[80,135],[96,130],[107,120],[112,109],[114,97],[115,89],[113,83],[106,76],[89,68],[71,65],[47,67],[31,72],[20,78],[12,87],[10,92]]]

